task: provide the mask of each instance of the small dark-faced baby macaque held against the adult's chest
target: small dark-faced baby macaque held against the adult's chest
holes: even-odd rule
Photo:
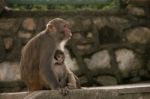
[[[69,89],[80,88],[80,82],[78,77],[70,71],[65,65],[65,55],[61,50],[57,50],[54,55],[55,65],[54,71],[55,76],[62,88],[67,87]]]

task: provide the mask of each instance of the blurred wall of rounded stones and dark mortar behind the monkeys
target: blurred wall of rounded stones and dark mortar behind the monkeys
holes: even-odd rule
[[[71,24],[66,64],[82,86],[149,82],[150,24],[145,17],[118,12],[9,12],[0,17],[1,92],[25,88],[20,81],[21,49],[55,17]]]

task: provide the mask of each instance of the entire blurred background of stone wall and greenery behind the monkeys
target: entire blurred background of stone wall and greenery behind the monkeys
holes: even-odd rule
[[[0,2],[0,92],[26,90],[21,49],[56,17],[71,24],[65,62],[82,86],[150,82],[149,0]]]

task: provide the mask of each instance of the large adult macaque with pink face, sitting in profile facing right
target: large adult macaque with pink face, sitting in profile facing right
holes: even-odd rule
[[[56,50],[64,50],[71,36],[68,22],[55,18],[25,45],[21,56],[21,77],[29,91],[61,89],[53,69],[54,54]]]

